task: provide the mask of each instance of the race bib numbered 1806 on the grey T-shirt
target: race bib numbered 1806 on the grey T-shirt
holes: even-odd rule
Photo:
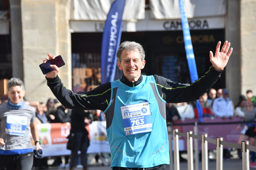
[[[26,127],[26,117],[8,115],[6,119],[5,134],[25,136]]]

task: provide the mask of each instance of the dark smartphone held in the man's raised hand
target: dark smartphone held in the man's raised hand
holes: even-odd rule
[[[57,67],[61,67],[65,65],[65,61],[63,60],[61,55],[58,55],[55,57],[55,59],[51,59],[46,61],[46,63],[40,64],[39,67],[42,70],[43,74],[50,73],[54,70],[50,67],[50,65],[56,65]]]

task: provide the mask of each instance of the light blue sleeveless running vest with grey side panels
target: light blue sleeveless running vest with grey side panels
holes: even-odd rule
[[[111,168],[148,168],[170,164],[165,101],[160,97],[154,77],[143,75],[142,82],[130,87],[120,80],[111,81],[111,100],[104,111],[111,150]],[[121,106],[149,102],[152,132],[126,135]]]

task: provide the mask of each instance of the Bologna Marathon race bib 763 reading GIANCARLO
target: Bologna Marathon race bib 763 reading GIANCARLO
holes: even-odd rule
[[[148,102],[121,106],[121,113],[126,135],[152,131]]]

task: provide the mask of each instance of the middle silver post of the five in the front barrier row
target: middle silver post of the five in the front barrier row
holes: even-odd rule
[[[202,143],[202,170],[208,170],[208,142],[205,140],[205,138],[208,137],[208,135],[201,134],[201,143]]]

